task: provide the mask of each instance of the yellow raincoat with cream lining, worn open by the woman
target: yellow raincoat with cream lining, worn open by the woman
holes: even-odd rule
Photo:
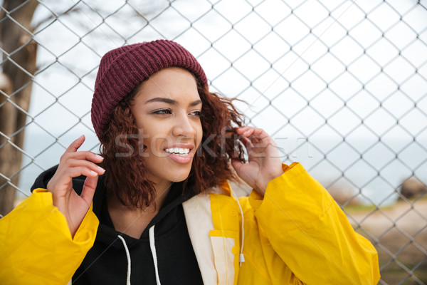
[[[283,170],[264,197],[253,191],[239,198],[243,230],[228,183],[183,203],[204,284],[377,284],[372,244],[300,164]],[[98,224],[90,208],[72,239],[51,193],[34,190],[0,219],[0,284],[67,284],[93,246]]]

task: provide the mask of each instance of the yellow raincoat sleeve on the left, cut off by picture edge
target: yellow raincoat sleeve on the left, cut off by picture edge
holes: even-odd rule
[[[72,238],[51,193],[34,190],[0,219],[0,284],[67,284],[93,246],[98,224],[91,206]]]

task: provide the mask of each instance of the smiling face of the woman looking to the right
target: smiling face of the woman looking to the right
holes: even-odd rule
[[[201,142],[201,100],[183,68],[164,68],[140,86],[130,106],[144,144],[149,180],[157,189],[188,177]]]

